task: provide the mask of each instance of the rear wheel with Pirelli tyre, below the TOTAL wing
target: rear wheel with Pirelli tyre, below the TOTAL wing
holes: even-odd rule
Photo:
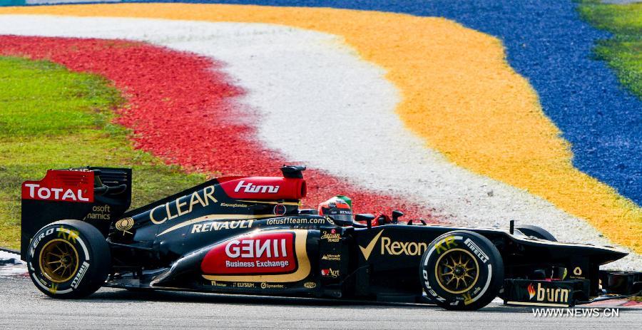
[[[31,280],[44,294],[81,298],[104,284],[111,269],[111,253],[96,227],[61,220],[34,235],[26,262]]]

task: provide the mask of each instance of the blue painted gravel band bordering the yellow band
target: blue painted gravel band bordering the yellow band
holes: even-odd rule
[[[591,59],[594,41],[610,35],[581,21],[573,1],[178,2],[323,6],[443,16],[497,36],[504,41],[511,66],[529,79],[544,112],[571,143],[574,165],[642,205],[642,101],[623,89],[606,63]]]

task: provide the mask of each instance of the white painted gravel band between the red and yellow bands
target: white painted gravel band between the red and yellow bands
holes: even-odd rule
[[[259,137],[374,191],[393,193],[462,225],[540,225],[561,241],[612,244],[584,220],[540,197],[449,163],[394,113],[399,93],[384,71],[339,36],[269,24],[156,19],[0,16],[0,33],[126,38],[210,56],[248,95]],[[631,254],[610,267],[642,269]]]

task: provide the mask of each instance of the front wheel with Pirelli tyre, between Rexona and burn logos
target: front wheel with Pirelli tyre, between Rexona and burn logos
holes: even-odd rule
[[[504,262],[494,244],[464,230],[434,239],[420,268],[424,291],[444,309],[480,309],[497,297],[504,281]]]

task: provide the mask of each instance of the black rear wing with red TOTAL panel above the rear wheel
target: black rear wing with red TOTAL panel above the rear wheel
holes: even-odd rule
[[[79,167],[47,170],[39,181],[22,183],[21,259],[31,238],[58,220],[83,220],[106,237],[112,221],[131,204],[131,168]]]

